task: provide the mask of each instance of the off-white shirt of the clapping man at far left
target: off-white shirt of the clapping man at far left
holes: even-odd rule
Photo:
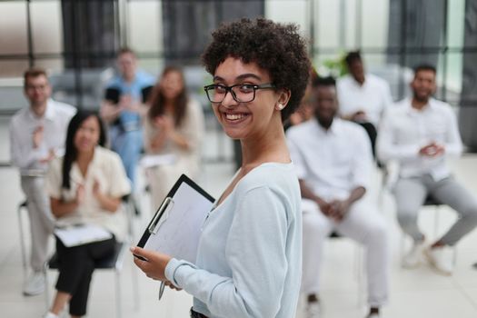
[[[76,108],[70,104],[48,100],[43,117],[37,117],[30,107],[22,108],[10,121],[10,155],[12,164],[20,168],[22,175],[45,173],[47,164],[40,160],[48,156],[49,150],[61,154],[65,149],[66,129]],[[41,144],[34,148],[33,134],[44,126]]]

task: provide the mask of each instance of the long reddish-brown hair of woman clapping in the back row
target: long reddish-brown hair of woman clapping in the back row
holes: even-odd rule
[[[184,73],[182,69],[178,66],[166,66],[164,68],[163,74],[161,75],[161,79],[163,79],[165,75],[168,75],[171,72],[177,72],[178,74],[180,74],[183,82],[183,89],[175,97],[174,101],[174,125],[177,127],[182,123],[184,119],[185,109],[187,107],[187,91],[185,89]],[[150,119],[154,119],[155,117],[164,114],[164,102],[165,96],[162,92],[162,88],[159,81],[157,84],[155,84],[153,93],[151,94],[150,107],[148,111],[148,117]]]

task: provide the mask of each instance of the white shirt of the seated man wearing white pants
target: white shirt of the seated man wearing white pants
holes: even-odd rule
[[[363,127],[335,118],[325,130],[314,118],[287,131],[302,179],[324,200],[346,199],[354,188],[368,188],[373,166],[371,143]]]

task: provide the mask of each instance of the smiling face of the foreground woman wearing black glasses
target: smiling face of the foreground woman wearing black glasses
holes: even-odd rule
[[[258,65],[244,64],[234,57],[227,57],[214,73],[214,84],[225,86],[271,82],[268,72]],[[274,124],[282,124],[280,112],[275,109],[280,98],[280,94],[273,89],[259,89],[252,102],[239,103],[227,93],[222,103],[213,103],[214,114],[229,137],[241,140],[260,137],[275,128]]]

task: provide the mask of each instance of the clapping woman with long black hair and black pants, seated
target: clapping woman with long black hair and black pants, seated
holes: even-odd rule
[[[72,317],[86,313],[94,260],[114,252],[124,240],[126,218],[121,198],[131,186],[121,159],[105,149],[104,126],[94,112],[80,111],[68,125],[65,156],[55,159],[46,178],[52,212],[59,226],[94,225],[110,233],[108,239],[66,246],[59,235],[57,293],[45,318],[55,318],[69,303]],[[68,243],[70,245],[70,243]]]

